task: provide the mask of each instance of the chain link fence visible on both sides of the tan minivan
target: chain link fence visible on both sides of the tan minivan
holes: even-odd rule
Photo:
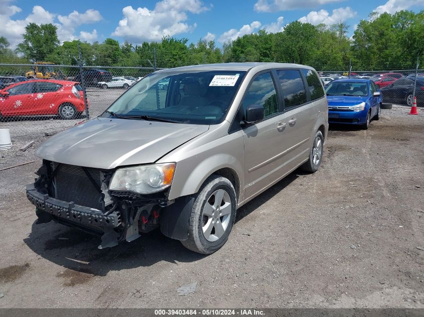
[[[154,71],[154,67],[0,64],[0,129],[10,129],[13,143],[56,134],[100,115],[126,89]],[[327,85],[349,77],[346,71],[320,75]],[[424,79],[419,76],[424,76],[424,70],[418,68],[350,73],[351,78],[373,79],[384,103],[408,106],[414,88],[418,106],[424,105]]]

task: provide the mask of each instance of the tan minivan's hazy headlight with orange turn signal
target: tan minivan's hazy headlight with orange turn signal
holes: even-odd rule
[[[175,163],[119,168],[112,176],[109,190],[156,193],[171,186],[174,171]]]

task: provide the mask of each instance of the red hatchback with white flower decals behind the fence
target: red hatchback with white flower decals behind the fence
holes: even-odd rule
[[[31,80],[0,90],[0,117],[59,115],[75,119],[83,111],[84,95],[77,82]]]

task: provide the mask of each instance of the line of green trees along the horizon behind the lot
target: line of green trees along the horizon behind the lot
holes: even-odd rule
[[[371,13],[348,37],[349,26],[338,23],[314,26],[299,21],[277,33],[259,30],[218,48],[214,41],[164,37],[160,42],[132,45],[114,39],[81,43],[85,66],[136,66],[172,68],[185,65],[228,62],[279,62],[310,65],[320,71],[414,69],[424,57],[424,11],[395,14]],[[30,23],[23,42],[10,49],[0,37],[0,63],[53,62],[78,65],[78,41],[60,44],[53,24]]]

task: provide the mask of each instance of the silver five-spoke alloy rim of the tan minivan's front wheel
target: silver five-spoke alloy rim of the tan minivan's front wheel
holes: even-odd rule
[[[206,240],[221,238],[231,218],[231,199],[224,189],[214,191],[207,199],[202,212],[202,231]]]

